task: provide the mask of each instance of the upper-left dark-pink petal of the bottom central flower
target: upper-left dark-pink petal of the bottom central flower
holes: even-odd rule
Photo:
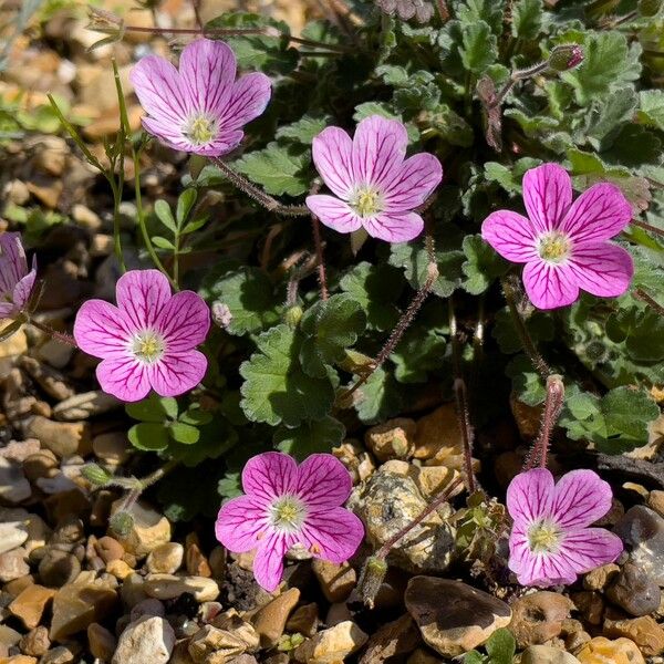
[[[294,495],[298,488],[298,464],[288,454],[264,452],[251,457],[242,470],[242,489],[263,500],[284,494]]]

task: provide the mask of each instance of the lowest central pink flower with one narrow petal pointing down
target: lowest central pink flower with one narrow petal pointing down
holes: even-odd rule
[[[291,547],[344,562],[362,542],[362,521],[341,507],[351,494],[351,476],[331,454],[313,454],[300,466],[287,454],[259,454],[242,470],[242,488],[246,496],[219,510],[217,539],[236,553],[256,549],[253,575],[270,592],[281,582]]]

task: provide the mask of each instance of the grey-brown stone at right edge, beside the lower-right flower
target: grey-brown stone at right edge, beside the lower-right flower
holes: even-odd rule
[[[630,551],[630,560],[664,587],[664,518],[643,506],[631,507],[614,532]]]

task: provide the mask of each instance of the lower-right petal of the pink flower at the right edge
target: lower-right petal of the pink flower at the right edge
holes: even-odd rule
[[[622,295],[634,276],[629,251],[612,242],[574,246],[568,268],[580,288],[600,298]]]

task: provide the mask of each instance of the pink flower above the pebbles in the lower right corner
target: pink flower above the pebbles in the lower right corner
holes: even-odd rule
[[[573,583],[577,574],[613,562],[620,538],[589,528],[611,508],[611,487],[592,470],[572,470],[558,484],[546,468],[517,475],[507,489],[513,519],[509,569],[522,585]]]

